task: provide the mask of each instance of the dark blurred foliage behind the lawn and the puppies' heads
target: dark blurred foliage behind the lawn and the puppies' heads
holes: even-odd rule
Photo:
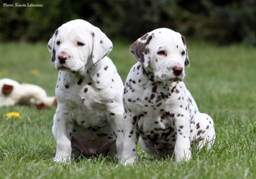
[[[48,41],[60,25],[82,18],[109,39],[135,41],[166,27],[220,44],[256,45],[255,0],[0,0],[0,41]],[[3,7],[42,4],[43,7]]]

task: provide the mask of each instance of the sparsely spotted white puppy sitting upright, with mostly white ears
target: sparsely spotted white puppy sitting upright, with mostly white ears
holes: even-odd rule
[[[59,27],[48,42],[59,70],[58,107],[52,132],[57,142],[54,161],[123,151],[123,82],[106,56],[112,42],[83,20]]]

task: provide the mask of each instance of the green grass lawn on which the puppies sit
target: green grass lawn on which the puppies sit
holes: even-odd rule
[[[130,44],[114,42],[108,55],[123,81],[136,63]],[[191,161],[175,163],[172,158],[152,160],[139,148],[133,166],[101,156],[56,164],[51,133],[55,108],[10,106],[0,108],[0,178],[255,178],[256,49],[195,40],[187,40],[187,47],[191,66],[186,87],[200,112],[215,122],[217,139],[210,152],[194,151]],[[0,54],[0,79],[39,85],[54,95],[58,72],[46,43],[2,43]],[[5,117],[11,111],[22,117]]]

